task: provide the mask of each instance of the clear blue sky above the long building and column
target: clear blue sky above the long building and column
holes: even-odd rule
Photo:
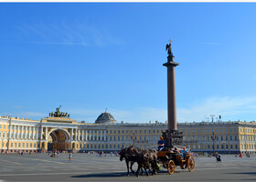
[[[178,122],[255,120],[255,17],[255,3],[1,3],[0,116],[165,122],[171,37]]]

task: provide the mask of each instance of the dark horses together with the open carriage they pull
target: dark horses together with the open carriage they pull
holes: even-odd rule
[[[138,177],[139,171],[142,172],[143,168],[146,176],[148,176],[147,169],[149,169],[152,175],[155,175],[156,171],[161,170],[161,165],[167,168],[170,175],[175,172],[177,166],[180,166],[182,169],[188,168],[190,172],[195,168],[195,159],[189,150],[181,154],[179,150],[172,148],[164,148],[164,150],[156,152],[154,149],[145,150],[131,146],[123,148],[119,155],[121,161],[125,159],[127,176],[129,176],[129,169],[131,169]],[[138,164],[136,172],[133,171],[133,164],[135,162]]]

